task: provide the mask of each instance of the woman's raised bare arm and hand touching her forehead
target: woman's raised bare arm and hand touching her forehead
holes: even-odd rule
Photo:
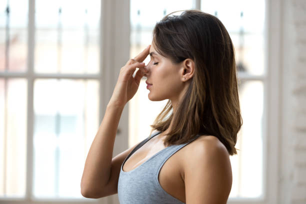
[[[81,194],[84,197],[99,198],[117,191],[120,165],[135,145],[112,158],[116,131],[124,105],[136,93],[140,79],[147,71],[141,62],[148,55],[149,47],[129,59],[120,69],[112,96],[85,160],[80,182]],[[139,70],[133,77],[137,67]]]

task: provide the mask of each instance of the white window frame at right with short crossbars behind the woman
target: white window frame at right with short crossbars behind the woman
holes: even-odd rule
[[[265,0],[265,73],[262,76],[239,74],[240,80],[261,80],[263,101],[263,196],[259,198],[229,198],[230,204],[279,203],[280,121],[281,121],[281,48],[282,1]]]

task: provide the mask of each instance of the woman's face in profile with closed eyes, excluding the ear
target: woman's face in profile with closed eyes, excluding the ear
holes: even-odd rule
[[[169,58],[166,58],[155,50],[152,42],[149,50],[150,61],[146,68],[147,88],[149,90],[148,98],[152,101],[170,99],[177,102],[180,98],[184,84],[182,79],[183,67],[181,63],[174,64]]]

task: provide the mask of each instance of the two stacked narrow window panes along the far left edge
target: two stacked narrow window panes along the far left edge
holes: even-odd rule
[[[0,72],[14,74],[26,71],[28,4],[9,5],[0,2]],[[22,77],[0,78],[0,196],[25,193],[26,86]]]

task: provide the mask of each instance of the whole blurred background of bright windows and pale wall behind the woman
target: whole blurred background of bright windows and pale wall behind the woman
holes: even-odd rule
[[[119,69],[182,9],[218,17],[235,47],[243,125],[228,203],[306,203],[303,0],[2,0],[0,203],[118,203],[81,196],[84,161]],[[113,156],[146,138],[167,102],[150,101],[145,80]]]

